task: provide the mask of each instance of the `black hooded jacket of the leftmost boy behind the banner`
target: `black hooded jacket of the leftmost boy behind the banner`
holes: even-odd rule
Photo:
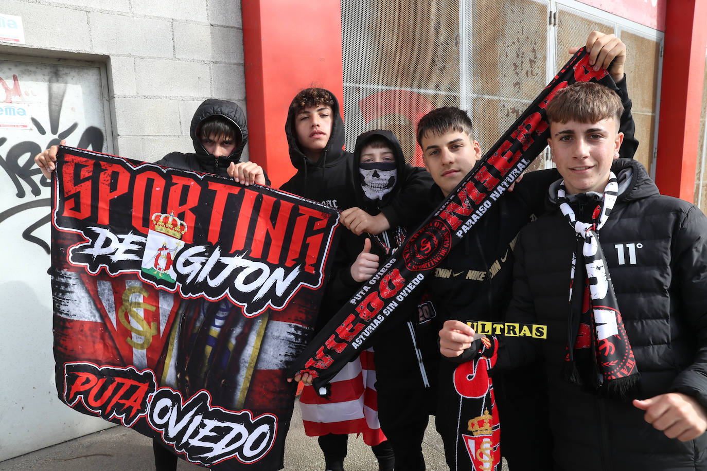
[[[228,119],[228,121],[231,121],[236,129],[240,131],[240,136],[236,136],[236,138],[242,138],[240,145],[233,149],[233,153],[228,157],[214,157],[214,155],[206,152],[204,145],[201,145],[201,141],[199,141],[199,124],[201,124],[201,121],[204,121],[204,119],[212,116],[221,116]],[[226,100],[216,100],[215,98],[204,100],[197,108],[197,111],[194,112],[189,135],[192,136],[195,153],[173,152],[165,155],[155,163],[164,165],[165,167],[194,170],[196,172],[212,173],[221,175],[222,177],[228,177],[226,173],[228,165],[230,165],[231,162],[240,162],[240,154],[243,153],[243,149],[248,142],[248,131],[243,109],[240,109],[235,103]],[[267,180],[267,176],[265,179]],[[270,182],[267,181],[267,184],[270,184]]]

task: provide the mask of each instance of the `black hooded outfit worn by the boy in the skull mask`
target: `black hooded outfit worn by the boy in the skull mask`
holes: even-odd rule
[[[383,138],[389,143],[390,150],[395,155],[397,169],[390,193],[380,200],[370,200],[365,196],[364,179],[359,172],[361,151],[375,138]],[[375,130],[361,134],[356,139],[354,154],[349,154],[347,158],[348,172],[353,183],[351,196],[355,205],[370,215],[385,212],[390,203],[410,187],[424,186],[421,194],[426,196],[433,183],[428,172],[405,163],[400,143],[391,131]],[[356,236],[353,232],[344,230],[337,249],[337,267],[332,272],[332,280],[327,286],[320,310],[317,322],[319,328],[329,321],[361,285],[351,277],[350,268],[363,249],[365,239],[371,239],[371,253],[379,256],[380,265],[402,243],[407,231],[415,229],[413,225],[391,226],[378,236]],[[424,469],[421,444],[428,416],[432,412],[431,407],[436,404],[433,397],[436,392],[436,372],[430,371],[429,366],[432,365],[436,370],[436,338],[439,326],[434,320],[426,319],[420,323],[421,316],[416,303],[410,302],[399,309],[405,309],[410,315],[387,326],[386,335],[373,345],[378,419],[395,453],[396,469],[415,471]]]

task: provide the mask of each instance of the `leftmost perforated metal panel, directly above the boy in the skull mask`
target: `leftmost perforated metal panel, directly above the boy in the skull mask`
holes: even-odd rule
[[[342,0],[341,35],[346,148],[365,131],[390,129],[406,160],[422,165],[417,121],[459,105],[458,1]]]

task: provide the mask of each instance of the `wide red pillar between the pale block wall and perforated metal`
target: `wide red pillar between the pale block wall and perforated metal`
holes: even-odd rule
[[[295,174],[284,131],[292,98],[317,86],[343,108],[341,4],[243,0],[241,11],[250,160],[278,187]]]

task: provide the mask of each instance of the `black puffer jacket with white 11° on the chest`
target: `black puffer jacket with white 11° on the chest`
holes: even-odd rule
[[[661,196],[636,161],[617,160],[612,171],[619,198],[599,239],[641,373],[638,398],[682,392],[707,408],[707,217]],[[520,232],[508,320],[546,324],[547,340],[506,338],[496,368],[542,351],[553,455],[563,470],[707,469],[707,434],[686,443],[668,439],[631,403],[561,378],[575,248],[575,232],[556,205]]]

